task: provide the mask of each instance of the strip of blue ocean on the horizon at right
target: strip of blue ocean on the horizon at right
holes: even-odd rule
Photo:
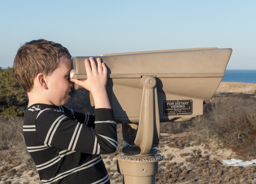
[[[226,70],[221,81],[256,83],[256,70]]]

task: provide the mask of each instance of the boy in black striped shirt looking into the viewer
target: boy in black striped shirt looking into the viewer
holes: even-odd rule
[[[28,94],[23,134],[43,183],[110,183],[100,154],[117,149],[106,92],[107,68],[85,60],[87,80],[69,79],[71,55],[61,44],[33,40],[19,48],[13,74]],[[91,66],[90,66],[91,64]],[[94,98],[95,116],[67,109],[73,83]]]

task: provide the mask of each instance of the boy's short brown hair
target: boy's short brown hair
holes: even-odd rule
[[[39,73],[51,75],[59,66],[59,58],[71,58],[68,49],[59,43],[39,39],[22,45],[13,63],[13,75],[28,93],[33,89],[34,78]]]

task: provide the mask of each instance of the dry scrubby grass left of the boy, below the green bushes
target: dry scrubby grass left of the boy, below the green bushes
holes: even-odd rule
[[[0,116],[0,178],[4,178],[3,180],[13,176],[19,177],[28,170],[37,174],[23,141],[22,126],[21,117]],[[10,182],[3,181],[3,183]]]

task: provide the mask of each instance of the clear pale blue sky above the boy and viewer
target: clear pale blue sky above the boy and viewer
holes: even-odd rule
[[[256,70],[255,9],[255,0],[1,0],[0,67],[42,38],[72,56],[232,48],[227,69]]]

